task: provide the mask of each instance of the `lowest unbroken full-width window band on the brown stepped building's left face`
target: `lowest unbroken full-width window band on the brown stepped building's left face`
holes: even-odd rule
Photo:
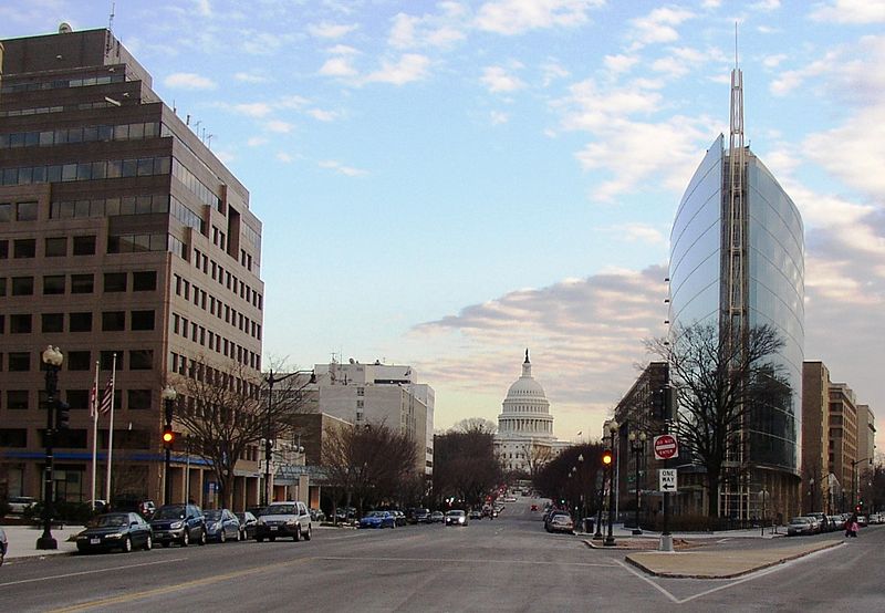
[[[18,168],[3,168],[0,185],[149,177],[153,175],[168,175],[170,166],[171,158],[168,156],[21,166]]]

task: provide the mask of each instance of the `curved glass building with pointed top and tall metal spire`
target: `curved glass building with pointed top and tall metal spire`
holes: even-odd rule
[[[741,457],[732,463],[739,466],[732,466],[735,475],[720,488],[719,510],[750,518],[759,513],[758,493],[766,490],[769,509],[777,503],[778,512],[789,517],[795,509],[801,457],[803,227],[795,205],[762,162],[749,147],[739,153],[739,215],[733,214],[735,175],[721,135],[683,196],[670,235],[669,321],[674,326],[714,323],[723,330],[739,316],[745,329],[769,324],[780,333],[784,345],[773,361],[782,366],[788,385],[771,403],[749,412]],[[729,248],[735,237],[741,243],[737,251]],[[739,310],[733,308],[735,292],[741,297]]]

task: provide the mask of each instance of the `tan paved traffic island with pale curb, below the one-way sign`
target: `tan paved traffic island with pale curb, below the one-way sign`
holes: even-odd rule
[[[795,560],[815,551],[839,547],[842,542],[841,540],[827,540],[778,548],[720,551],[649,551],[629,553],[626,561],[656,576],[732,579]]]

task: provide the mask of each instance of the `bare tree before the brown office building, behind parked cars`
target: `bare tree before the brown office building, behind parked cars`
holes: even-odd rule
[[[230,507],[237,461],[262,438],[291,430],[292,416],[306,402],[304,384],[287,380],[268,402],[267,384],[253,371],[240,364],[216,367],[200,359],[178,387],[175,419],[190,434],[191,450],[208,461],[221,505]]]

